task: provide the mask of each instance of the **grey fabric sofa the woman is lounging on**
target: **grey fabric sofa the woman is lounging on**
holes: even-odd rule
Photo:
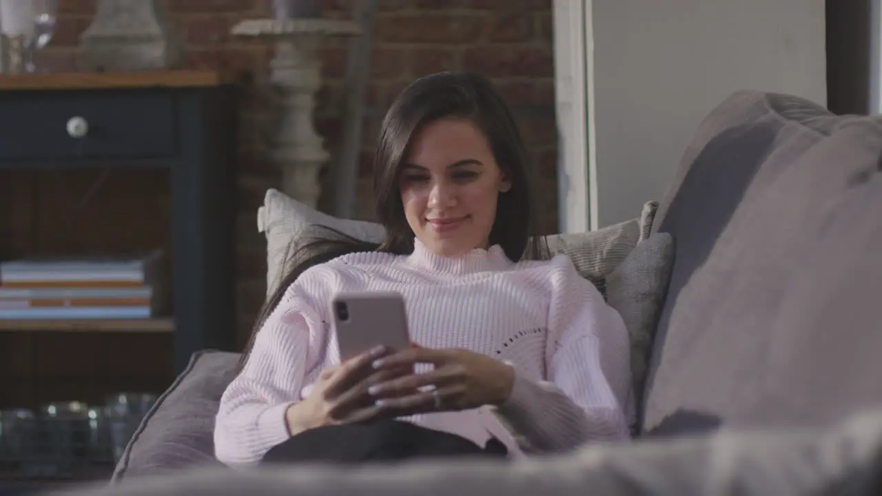
[[[699,125],[651,217],[637,236],[668,233],[673,257],[631,442],[358,469],[181,462],[117,468],[114,484],[76,493],[882,494],[882,117],[733,94]],[[209,355],[206,379],[179,378],[167,402],[216,409],[203,392],[231,379],[236,355]],[[188,435],[205,438],[203,424]]]

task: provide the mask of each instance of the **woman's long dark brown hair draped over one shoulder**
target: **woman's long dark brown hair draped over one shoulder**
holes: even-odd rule
[[[544,237],[531,237],[532,208],[527,180],[527,150],[511,110],[488,79],[472,72],[439,72],[415,80],[392,102],[380,127],[374,154],[374,198],[377,220],[385,239],[371,244],[339,231],[319,228],[320,236],[299,240],[289,249],[285,274],[266,299],[251,330],[240,367],[245,363],[264,320],[279,304],[288,286],[310,267],[355,252],[414,251],[414,231],[407,224],[399,191],[400,169],[408,148],[422,126],[440,118],[469,119],[482,130],[490,150],[512,187],[499,194],[490,245],[499,244],[505,255],[519,259],[544,259]]]

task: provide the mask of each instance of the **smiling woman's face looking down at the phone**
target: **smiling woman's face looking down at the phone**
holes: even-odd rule
[[[400,172],[410,229],[443,257],[488,247],[499,193],[511,187],[486,137],[467,119],[423,125]]]

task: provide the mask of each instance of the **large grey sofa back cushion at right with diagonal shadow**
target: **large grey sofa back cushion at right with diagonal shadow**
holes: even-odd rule
[[[818,425],[882,403],[882,118],[733,95],[654,230],[676,239],[644,432]]]

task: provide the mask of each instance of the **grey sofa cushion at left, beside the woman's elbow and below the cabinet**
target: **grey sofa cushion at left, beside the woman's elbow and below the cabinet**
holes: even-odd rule
[[[198,351],[141,421],[113,481],[166,470],[220,465],[214,458],[214,416],[235,377],[238,353]]]

